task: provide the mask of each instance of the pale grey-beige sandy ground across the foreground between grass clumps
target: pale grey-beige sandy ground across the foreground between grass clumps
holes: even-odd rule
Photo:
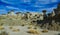
[[[28,31],[28,26],[12,26],[14,29],[19,29],[20,31],[18,32],[13,32],[12,29],[9,29],[9,26],[4,26],[4,30],[0,30],[1,31],[6,31],[9,33],[9,35],[38,35],[38,34],[30,34],[30,33],[27,33]],[[40,34],[39,35],[57,35],[58,33],[60,32],[57,32],[57,31],[48,31],[47,33],[42,33],[41,31],[43,29],[37,29],[38,31],[40,31]]]

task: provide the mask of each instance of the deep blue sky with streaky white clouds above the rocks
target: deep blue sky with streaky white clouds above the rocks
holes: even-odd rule
[[[48,13],[56,8],[59,2],[59,0],[0,0],[0,14],[7,13],[9,10],[39,13],[47,10]]]

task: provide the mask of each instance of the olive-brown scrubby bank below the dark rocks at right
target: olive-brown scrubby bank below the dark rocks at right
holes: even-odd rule
[[[42,29],[48,29],[48,30],[53,30],[53,31],[60,31],[60,25],[59,23],[45,23],[45,24],[40,24],[40,28]]]

